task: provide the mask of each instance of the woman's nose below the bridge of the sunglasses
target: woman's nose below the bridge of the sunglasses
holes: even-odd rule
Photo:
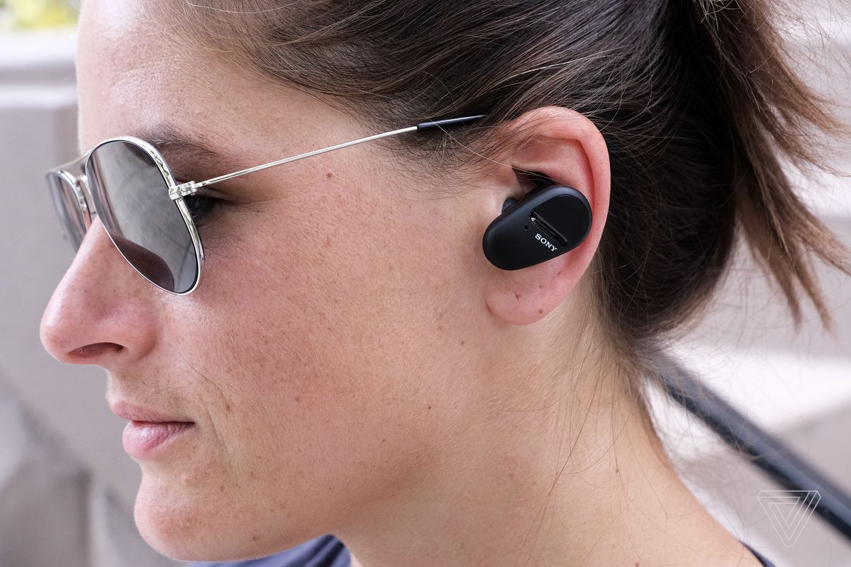
[[[42,315],[44,349],[60,362],[110,366],[149,352],[157,288],[137,274],[94,218]]]

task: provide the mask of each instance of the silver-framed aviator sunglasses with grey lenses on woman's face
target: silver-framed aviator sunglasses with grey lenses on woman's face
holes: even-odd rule
[[[186,197],[213,196],[204,190],[267,167],[295,162],[350,145],[403,133],[474,122],[480,116],[420,122],[416,126],[285,157],[213,179],[177,184],[163,156],[145,140],[120,136],[100,142],[73,162],[47,173],[62,235],[76,253],[94,217],[100,218],[118,252],[146,280],[169,293],[193,292],[201,281],[201,236]]]

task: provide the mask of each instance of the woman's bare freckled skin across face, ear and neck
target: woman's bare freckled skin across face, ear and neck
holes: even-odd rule
[[[374,133],[191,38],[176,43],[148,5],[84,3],[81,150],[166,124],[252,166]],[[637,525],[702,508],[667,468],[658,473],[637,414],[615,419],[612,400],[595,397],[617,383],[587,325],[582,279],[608,209],[608,154],[590,122],[548,112],[563,126],[541,135],[560,145],[495,162],[465,191],[448,191],[458,182],[447,179],[413,182],[410,164],[369,144],[222,184],[231,201],[200,231],[205,273],[188,296],[136,274],[95,221],[45,309],[41,337],[58,360],[104,367],[108,400],[196,422],[139,462],[134,519],[151,547],[236,560],[330,532],[357,549],[354,567],[500,567],[530,553],[543,567],[573,564],[571,553],[576,563],[629,564],[632,547],[614,544],[627,534],[630,545],[659,543],[665,559],[678,557],[648,533],[612,528],[624,514],[609,492],[619,423],[628,448],[617,478],[649,471],[660,484],[645,499],[628,495]],[[595,224],[583,246],[511,273],[488,264],[483,232],[521,190],[512,167],[586,190]],[[609,388],[597,388],[600,376]],[[599,415],[589,419],[589,408]],[[581,442],[579,431],[588,432]],[[555,459],[563,455],[568,473]],[[650,484],[632,480],[625,485]],[[659,494],[681,495],[680,507],[657,508]],[[569,537],[527,539],[545,511]],[[719,541],[706,536],[712,530],[668,540],[683,541],[690,557]],[[591,562],[600,550],[609,554]]]

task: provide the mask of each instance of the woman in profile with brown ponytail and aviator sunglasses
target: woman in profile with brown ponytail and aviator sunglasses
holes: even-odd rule
[[[268,563],[293,565],[762,564],[677,478],[640,392],[742,229],[796,317],[798,281],[830,322],[802,253],[851,274],[780,169],[835,124],[769,15],[88,0],[81,146],[133,138],[54,174],[94,230],[41,337],[103,366],[133,420],[146,541],[231,561],[313,540]],[[503,207],[551,186],[587,201],[584,238],[488,261]]]

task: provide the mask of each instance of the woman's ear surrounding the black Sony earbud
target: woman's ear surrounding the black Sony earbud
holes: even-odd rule
[[[488,309],[508,323],[527,325],[556,309],[574,291],[597,251],[608,213],[608,149],[590,120],[558,106],[528,111],[502,128],[507,138],[519,143],[507,161],[496,166],[500,171],[493,179],[499,191],[492,205],[497,207],[488,212],[488,223],[500,215],[505,199],[520,199],[528,192],[525,173],[543,173],[557,184],[580,190],[591,205],[591,231],[570,252],[516,270],[499,269],[485,260]]]

